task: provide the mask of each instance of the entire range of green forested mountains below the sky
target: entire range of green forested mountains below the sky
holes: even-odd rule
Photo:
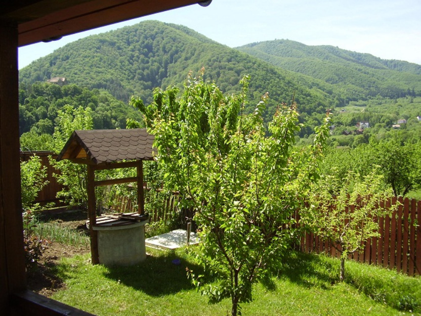
[[[128,109],[132,95],[148,104],[154,87],[182,87],[188,72],[202,67],[204,79],[215,80],[224,93],[238,92],[239,80],[249,74],[247,110],[253,111],[269,92],[266,120],[279,103],[294,98],[305,123],[301,137],[312,133],[326,109],[353,104],[363,110],[367,100],[389,104],[421,96],[421,66],[416,64],[291,40],[231,49],[184,26],[145,21],[79,39],[21,69],[21,133],[32,126],[38,133],[51,130],[55,111],[65,103],[93,108],[94,128],[124,127],[124,116],[139,114]],[[47,97],[54,88],[44,82],[56,76],[65,77],[85,97],[79,92],[67,96],[71,88],[66,86],[61,88],[63,98]],[[413,104],[412,99],[407,102]],[[394,111],[393,119],[399,118],[399,110]],[[341,125],[340,118],[335,120]],[[392,127],[393,119],[387,119],[385,128]]]

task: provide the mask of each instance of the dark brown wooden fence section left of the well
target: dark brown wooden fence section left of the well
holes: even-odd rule
[[[21,151],[20,160],[27,161],[32,156],[38,156],[41,164],[47,168],[48,184],[38,192],[35,203],[39,203],[44,206],[47,203],[54,203],[54,206],[64,206],[65,203],[57,198],[57,192],[63,189],[63,186],[57,182],[57,179],[53,176],[53,173],[57,173],[57,170],[50,164],[49,156],[56,158],[57,155],[53,152],[48,151]]]

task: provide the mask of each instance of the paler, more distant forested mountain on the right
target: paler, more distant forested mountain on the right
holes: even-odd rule
[[[284,39],[251,43],[237,50],[282,69],[331,83],[340,89],[345,101],[377,95],[385,98],[421,95],[421,65],[405,61]]]

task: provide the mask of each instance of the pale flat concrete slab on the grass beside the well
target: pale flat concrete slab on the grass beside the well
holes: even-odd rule
[[[189,245],[198,244],[199,239],[196,233],[190,233]],[[176,249],[187,245],[187,231],[175,230],[170,233],[153,236],[145,239],[145,245],[147,247],[158,248],[158,249]]]

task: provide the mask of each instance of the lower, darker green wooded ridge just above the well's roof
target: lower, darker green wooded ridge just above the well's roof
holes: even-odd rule
[[[36,82],[21,85],[19,89],[20,134],[28,131],[53,134],[57,115],[67,105],[75,109],[90,108],[96,129],[125,128],[128,118],[141,119],[138,111],[103,89]]]

